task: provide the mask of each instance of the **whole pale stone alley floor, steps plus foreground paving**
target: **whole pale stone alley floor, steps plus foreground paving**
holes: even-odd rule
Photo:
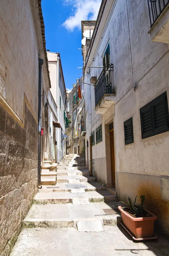
[[[52,171],[44,174],[52,180]],[[56,186],[42,185],[35,195],[11,256],[168,256],[169,242],[161,237],[132,242],[120,226],[116,199],[89,176],[83,155],[66,155],[57,168]]]

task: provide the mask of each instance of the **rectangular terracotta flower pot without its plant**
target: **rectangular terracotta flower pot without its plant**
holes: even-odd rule
[[[119,206],[118,209],[121,211],[121,218],[124,225],[132,232],[135,238],[148,238],[153,236],[154,221],[157,219],[157,216],[145,209],[145,211],[151,215],[150,217],[133,218],[121,209],[121,206]]]

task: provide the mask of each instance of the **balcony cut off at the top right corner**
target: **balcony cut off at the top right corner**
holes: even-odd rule
[[[169,0],[147,0],[153,42],[169,44]]]

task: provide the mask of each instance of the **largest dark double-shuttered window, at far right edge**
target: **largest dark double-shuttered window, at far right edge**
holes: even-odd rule
[[[166,92],[140,109],[140,119],[142,139],[169,131],[169,111]]]

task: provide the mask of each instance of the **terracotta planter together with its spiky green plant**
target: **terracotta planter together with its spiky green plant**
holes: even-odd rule
[[[157,219],[157,216],[144,209],[145,195],[141,195],[140,198],[141,204],[136,204],[137,196],[134,202],[128,197],[127,204],[120,202],[124,206],[118,207],[123,224],[130,230],[136,240],[153,238],[154,222]]]

